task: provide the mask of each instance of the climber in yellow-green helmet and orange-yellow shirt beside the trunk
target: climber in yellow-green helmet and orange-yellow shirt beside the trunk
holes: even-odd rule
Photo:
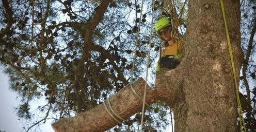
[[[156,71],[159,71],[161,67],[176,68],[182,60],[183,39],[172,37],[171,21],[166,17],[156,22],[155,30],[156,34],[163,40],[162,45],[165,45],[165,49],[161,50],[161,58],[157,63]]]

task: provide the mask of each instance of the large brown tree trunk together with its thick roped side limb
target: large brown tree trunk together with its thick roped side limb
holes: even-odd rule
[[[239,1],[224,2],[233,48],[236,77],[241,68]],[[189,1],[184,58],[178,68],[157,73],[155,90],[147,90],[147,103],[167,102],[174,111],[175,131],[236,131],[236,100],[230,56],[219,1]],[[143,81],[134,88],[143,95]],[[116,113],[127,119],[142,103],[130,86],[110,98]],[[63,119],[55,131],[105,131],[118,124],[103,105],[77,117]]]

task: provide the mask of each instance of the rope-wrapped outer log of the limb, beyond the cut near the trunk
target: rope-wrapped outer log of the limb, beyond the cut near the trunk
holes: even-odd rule
[[[145,87],[145,81],[139,79],[133,85],[134,90],[143,96],[143,89]],[[147,85],[147,96],[146,102],[150,105],[156,100],[155,90],[152,90]],[[133,93],[130,84],[125,86],[124,89],[120,90],[114,96],[109,98],[111,107],[114,109],[115,113],[122,117],[123,119],[128,119],[132,115],[136,114],[142,109],[142,101]],[[105,104],[107,102],[105,101]],[[110,111],[110,110],[109,110]],[[115,125],[116,122],[105,109],[103,104],[87,111],[81,112],[76,117],[62,119],[54,124],[52,127],[56,132],[64,131],[105,131]]]

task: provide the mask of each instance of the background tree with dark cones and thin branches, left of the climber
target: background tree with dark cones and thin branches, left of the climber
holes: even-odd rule
[[[122,89],[131,80],[134,53],[134,77],[144,71],[140,64],[146,62],[149,44],[145,20],[151,11],[140,11],[136,1],[3,0],[1,7],[0,61],[10,88],[22,99],[17,114],[28,121],[26,131],[87,111]],[[139,49],[134,52],[140,12]],[[42,98],[46,104],[34,110],[31,102]]]

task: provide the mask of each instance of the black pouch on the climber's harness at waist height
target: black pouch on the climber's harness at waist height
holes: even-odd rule
[[[168,69],[174,69],[176,68],[180,62],[178,60],[174,59],[174,55],[167,55],[161,58],[161,66],[168,68]]]

